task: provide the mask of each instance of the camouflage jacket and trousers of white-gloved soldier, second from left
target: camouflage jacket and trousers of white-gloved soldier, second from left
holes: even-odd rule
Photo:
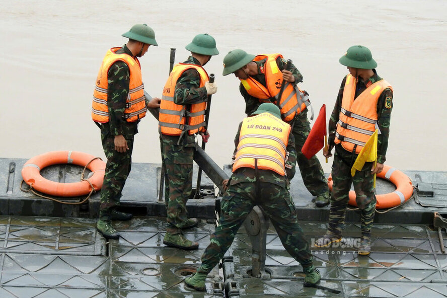
[[[187,64],[200,62],[190,56]],[[195,69],[185,70],[177,81],[174,103],[189,105],[207,98],[205,87],[200,87],[200,75]],[[186,202],[192,192],[192,164],[195,135],[165,135],[160,132],[162,167],[165,170],[165,202],[167,204],[168,231],[173,233],[182,228],[187,220]]]

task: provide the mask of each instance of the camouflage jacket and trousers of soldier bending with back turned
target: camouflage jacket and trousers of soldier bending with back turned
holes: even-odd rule
[[[239,143],[241,125],[242,123],[239,125],[235,138],[236,147]],[[296,209],[288,191],[288,180],[293,177],[296,159],[294,137],[291,133],[287,152],[289,153],[286,161],[287,177],[269,170],[258,170],[258,175],[256,175],[252,168],[240,168],[233,173],[221,201],[219,224],[211,235],[211,243],[202,255],[202,264],[197,270],[198,273],[210,272],[219,262],[255,205],[261,206],[270,218],[287,252],[303,267],[312,265],[313,256],[296,217]]]

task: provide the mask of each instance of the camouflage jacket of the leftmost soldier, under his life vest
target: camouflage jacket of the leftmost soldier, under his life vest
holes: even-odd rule
[[[128,54],[133,57],[132,52],[126,45],[123,45],[116,53]],[[116,61],[110,66],[107,79],[109,81],[107,86],[107,106],[109,108],[108,124],[110,126],[110,133],[112,135],[122,134],[126,139],[133,138],[133,135],[138,132],[137,123],[139,120],[127,122],[123,119],[127,95],[129,93],[129,66],[121,60]]]

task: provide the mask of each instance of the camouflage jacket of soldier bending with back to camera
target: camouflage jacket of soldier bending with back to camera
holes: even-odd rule
[[[241,127],[242,127],[242,122],[239,124],[238,133],[236,134],[236,137],[235,137],[235,151],[234,151],[234,154],[232,157],[233,163],[236,158],[236,152],[238,151]],[[288,189],[289,181],[295,175],[295,163],[296,163],[295,138],[293,136],[293,133],[291,133],[291,131],[289,134],[286,150],[287,150],[287,154],[288,154],[288,157],[286,157],[286,162],[285,162],[286,176],[281,176],[281,175],[277,174],[276,172],[273,172],[270,170],[258,170],[260,182],[269,182],[269,183],[277,184],[279,186],[282,186],[282,187]],[[256,181],[255,169],[239,168],[231,176],[230,184],[234,185],[234,184],[241,183],[241,182],[255,182],[255,181]]]

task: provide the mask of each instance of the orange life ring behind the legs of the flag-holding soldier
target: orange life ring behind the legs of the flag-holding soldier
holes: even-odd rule
[[[376,195],[376,209],[398,206],[408,200],[413,194],[413,184],[410,178],[395,168],[384,165],[382,172],[377,174],[377,177],[392,182],[396,186],[396,190],[387,194]],[[332,191],[332,183],[332,176],[329,176],[328,185],[330,191]],[[349,191],[349,205],[357,206],[355,192],[353,190]]]

